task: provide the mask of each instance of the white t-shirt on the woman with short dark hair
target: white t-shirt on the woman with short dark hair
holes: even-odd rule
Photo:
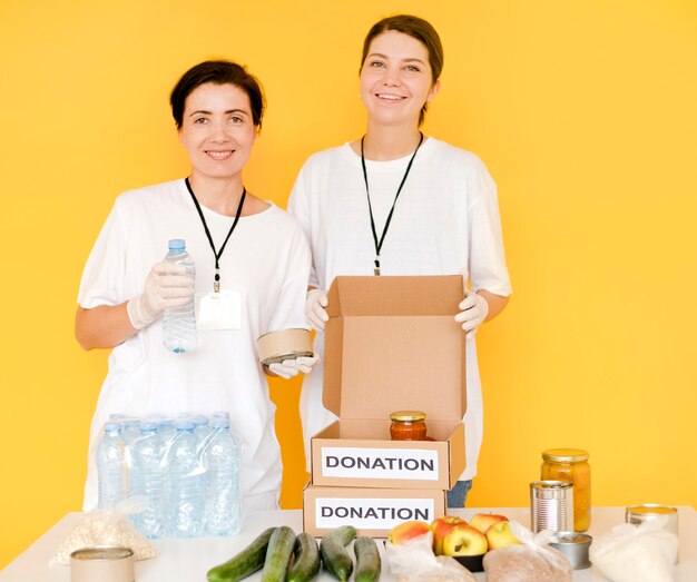
[[[202,208],[219,251],[234,218]],[[163,260],[171,238],[186,240],[196,264],[197,295],[213,290],[213,250],[184,180],[175,180],[117,198],[85,267],[79,304],[118,305],[143,293],[150,268]],[[111,351],[92,418],[85,510],[97,503],[95,444],[109,414],[214,411],[229,412],[230,427],[242,441],[245,506],[277,507],[283,466],[257,338],[275,329],[306,327],[310,264],[303,231],[277,206],[240,217],[219,262],[222,289],[242,297],[240,329],[199,329],[194,352],[173,354],[163,345],[159,319]]]

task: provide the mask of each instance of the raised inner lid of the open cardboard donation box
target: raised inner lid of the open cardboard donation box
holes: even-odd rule
[[[341,418],[465,412],[462,277],[336,277],[325,327],[323,403]]]

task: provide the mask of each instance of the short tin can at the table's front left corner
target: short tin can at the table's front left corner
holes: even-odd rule
[[[91,546],[70,554],[70,582],[135,582],[134,552],[121,546]]]

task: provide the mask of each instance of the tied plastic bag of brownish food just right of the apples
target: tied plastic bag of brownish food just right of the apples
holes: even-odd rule
[[[550,530],[533,534],[511,521],[511,532],[521,542],[491,550],[484,555],[487,582],[571,582],[573,569],[560,551],[547,545]]]

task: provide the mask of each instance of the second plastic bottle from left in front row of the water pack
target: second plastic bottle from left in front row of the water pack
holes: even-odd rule
[[[161,466],[163,442],[157,423],[140,423],[140,437],[132,443],[130,454],[130,493],[147,499],[147,509],[134,515],[134,524],[146,537],[163,537],[167,523],[167,473]]]

